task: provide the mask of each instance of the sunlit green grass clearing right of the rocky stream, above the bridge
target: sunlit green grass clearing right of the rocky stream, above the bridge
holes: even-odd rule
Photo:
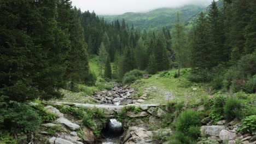
[[[187,71],[187,72],[186,72]],[[156,87],[156,91],[148,92],[148,99],[145,104],[160,103],[166,104],[169,102],[184,101],[187,105],[195,104],[196,100],[205,98],[208,94],[200,83],[191,83],[185,79],[185,74],[189,73],[189,69],[182,69],[181,74],[184,73],[180,79],[174,78],[177,70],[170,70],[160,72],[153,75],[149,79],[141,79],[133,83],[131,86],[138,89],[138,93],[147,93],[145,88],[152,86]],[[181,81],[179,81],[181,80]],[[196,90],[193,91],[193,88]],[[168,98],[166,93],[171,93]]]

